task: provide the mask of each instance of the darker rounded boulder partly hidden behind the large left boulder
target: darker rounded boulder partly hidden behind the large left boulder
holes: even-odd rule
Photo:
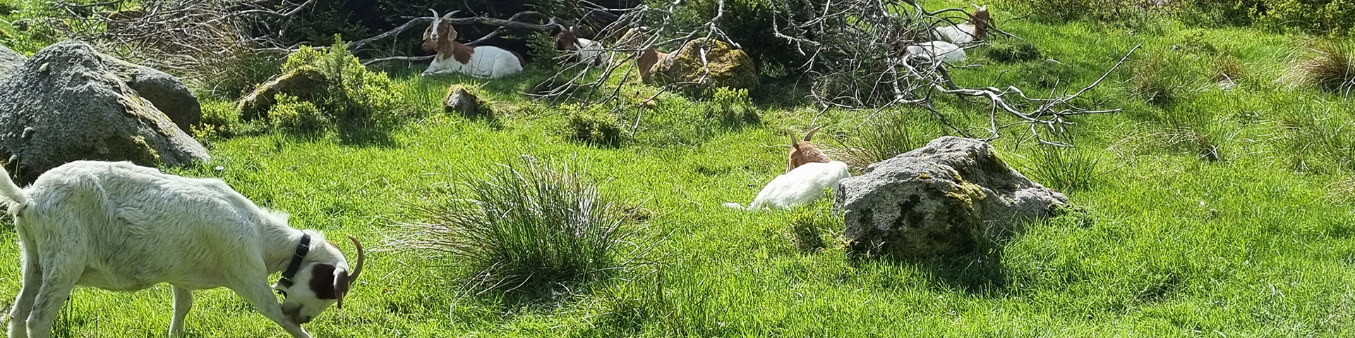
[[[131,64],[114,58],[107,54],[99,54],[103,58],[104,65],[112,69],[127,87],[137,91],[142,99],[146,99],[160,112],[169,116],[179,128],[183,131],[192,131],[192,126],[202,122],[202,104],[198,103],[198,97],[192,96],[192,91],[179,81],[179,78],[156,70],[153,68]]]

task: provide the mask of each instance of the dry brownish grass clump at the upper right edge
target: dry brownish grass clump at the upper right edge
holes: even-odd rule
[[[1280,81],[1291,85],[1316,85],[1318,89],[1350,96],[1355,89],[1355,43],[1314,42]]]

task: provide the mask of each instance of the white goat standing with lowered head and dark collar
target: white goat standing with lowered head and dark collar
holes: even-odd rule
[[[76,161],[20,189],[0,169],[0,201],[15,219],[23,287],[9,338],[46,338],[76,285],[138,291],[173,287],[169,337],[183,335],[192,291],[226,287],[259,312],[309,338],[301,324],[343,299],[362,273],[324,234],[251,203],[221,180],[160,173],[130,162]],[[268,274],[282,272],[268,287]],[[351,272],[351,273],[350,273]]]

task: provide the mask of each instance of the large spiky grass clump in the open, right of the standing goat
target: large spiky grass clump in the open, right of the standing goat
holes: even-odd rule
[[[507,292],[598,281],[634,257],[637,233],[625,215],[566,165],[528,160],[455,181],[469,196],[419,207],[427,220],[406,224],[411,235],[393,245],[469,268],[467,285]]]

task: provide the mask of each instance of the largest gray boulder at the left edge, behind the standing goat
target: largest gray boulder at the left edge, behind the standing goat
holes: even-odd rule
[[[175,166],[207,158],[83,42],[47,46],[0,80],[0,161],[20,181],[77,160]]]

